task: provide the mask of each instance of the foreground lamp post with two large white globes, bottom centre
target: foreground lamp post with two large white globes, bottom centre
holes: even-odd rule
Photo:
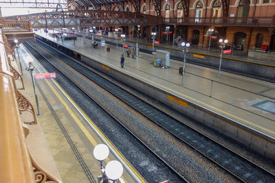
[[[99,144],[94,148],[94,157],[100,162],[100,169],[102,173],[102,175],[98,177],[98,182],[108,183],[109,180],[115,182],[123,173],[122,164],[116,160],[108,162],[106,167],[104,167],[103,162],[108,155],[109,148],[107,145]]]

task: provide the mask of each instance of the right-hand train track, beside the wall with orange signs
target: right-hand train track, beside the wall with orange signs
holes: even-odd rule
[[[49,45],[45,45],[43,42],[39,41],[39,45],[73,68],[82,66],[65,56],[63,53],[52,49]],[[83,72],[81,71],[81,73]],[[178,138],[180,141],[192,147],[192,149],[195,149],[199,152],[199,154],[208,158],[208,160],[214,162],[221,167],[221,169],[224,169],[241,182],[275,182],[274,174],[259,167],[257,164],[254,164],[243,156],[236,154],[231,149],[224,147],[208,136],[197,132],[192,129],[192,127],[184,125],[180,121],[173,119],[173,117],[157,110],[157,108],[120,88],[120,86],[117,86],[111,82],[106,82],[104,78],[100,77],[96,73],[93,74],[93,77],[87,77],[96,82],[102,88],[108,90],[109,93],[115,95],[115,97],[118,97],[118,99],[124,101],[124,103],[127,103],[127,105],[131,106],[131,108],[134,108],[148,119],[151,119],[151,121],[170,132],[170,134],[173,134],[173,136]]]

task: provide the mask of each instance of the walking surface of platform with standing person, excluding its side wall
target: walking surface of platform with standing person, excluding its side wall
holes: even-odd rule
[[[73,40],[62,41],[45,33],[36,34],[275,139],[275,84],[225,72],[217,77],[217,70],[186,64],[184,86],[181,86],[178,69],[182,62],[170,60],[170,68],[160,69],[153,66],[152,55],[140,53],[137,60],[125,56],[124,69],[121,69],[121,48],[106,45],[111,47],[107,52],[106,49],[92,49],[88,39],[83,44],[82,38],[78,38],[74,46]]]

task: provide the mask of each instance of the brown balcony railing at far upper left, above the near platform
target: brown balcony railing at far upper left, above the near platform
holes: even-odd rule
[[[4,32],[32,32],[30,21],[1,20]]]

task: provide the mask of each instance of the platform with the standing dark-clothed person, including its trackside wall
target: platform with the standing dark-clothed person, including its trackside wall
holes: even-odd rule
[[[139,53],[137,59],[125,57],[122,69],[121,48],[106,45],[111,47],[111,51],[107,52],[106,49],[93,49],[91,40],[86,39],[86,44],[83,44],[78,38],[74,45],[73,40],[61,41],[44,33],[36,34],[85,58],[109,66],[122,73],[125,80],[133,77],[157,91],[161,90],[168,99],[168,105],[275,160],[274,84],[225,72],[217,77],[217,70],[186,64],[184,86],[181,86],[182,76],[178,69],[182,62],[170,60],[168,69],[159,69],[152,64],[153,56]],[[153,91],[148,93],[153,95]],[[173,102],[181,105],[175,106]]]

